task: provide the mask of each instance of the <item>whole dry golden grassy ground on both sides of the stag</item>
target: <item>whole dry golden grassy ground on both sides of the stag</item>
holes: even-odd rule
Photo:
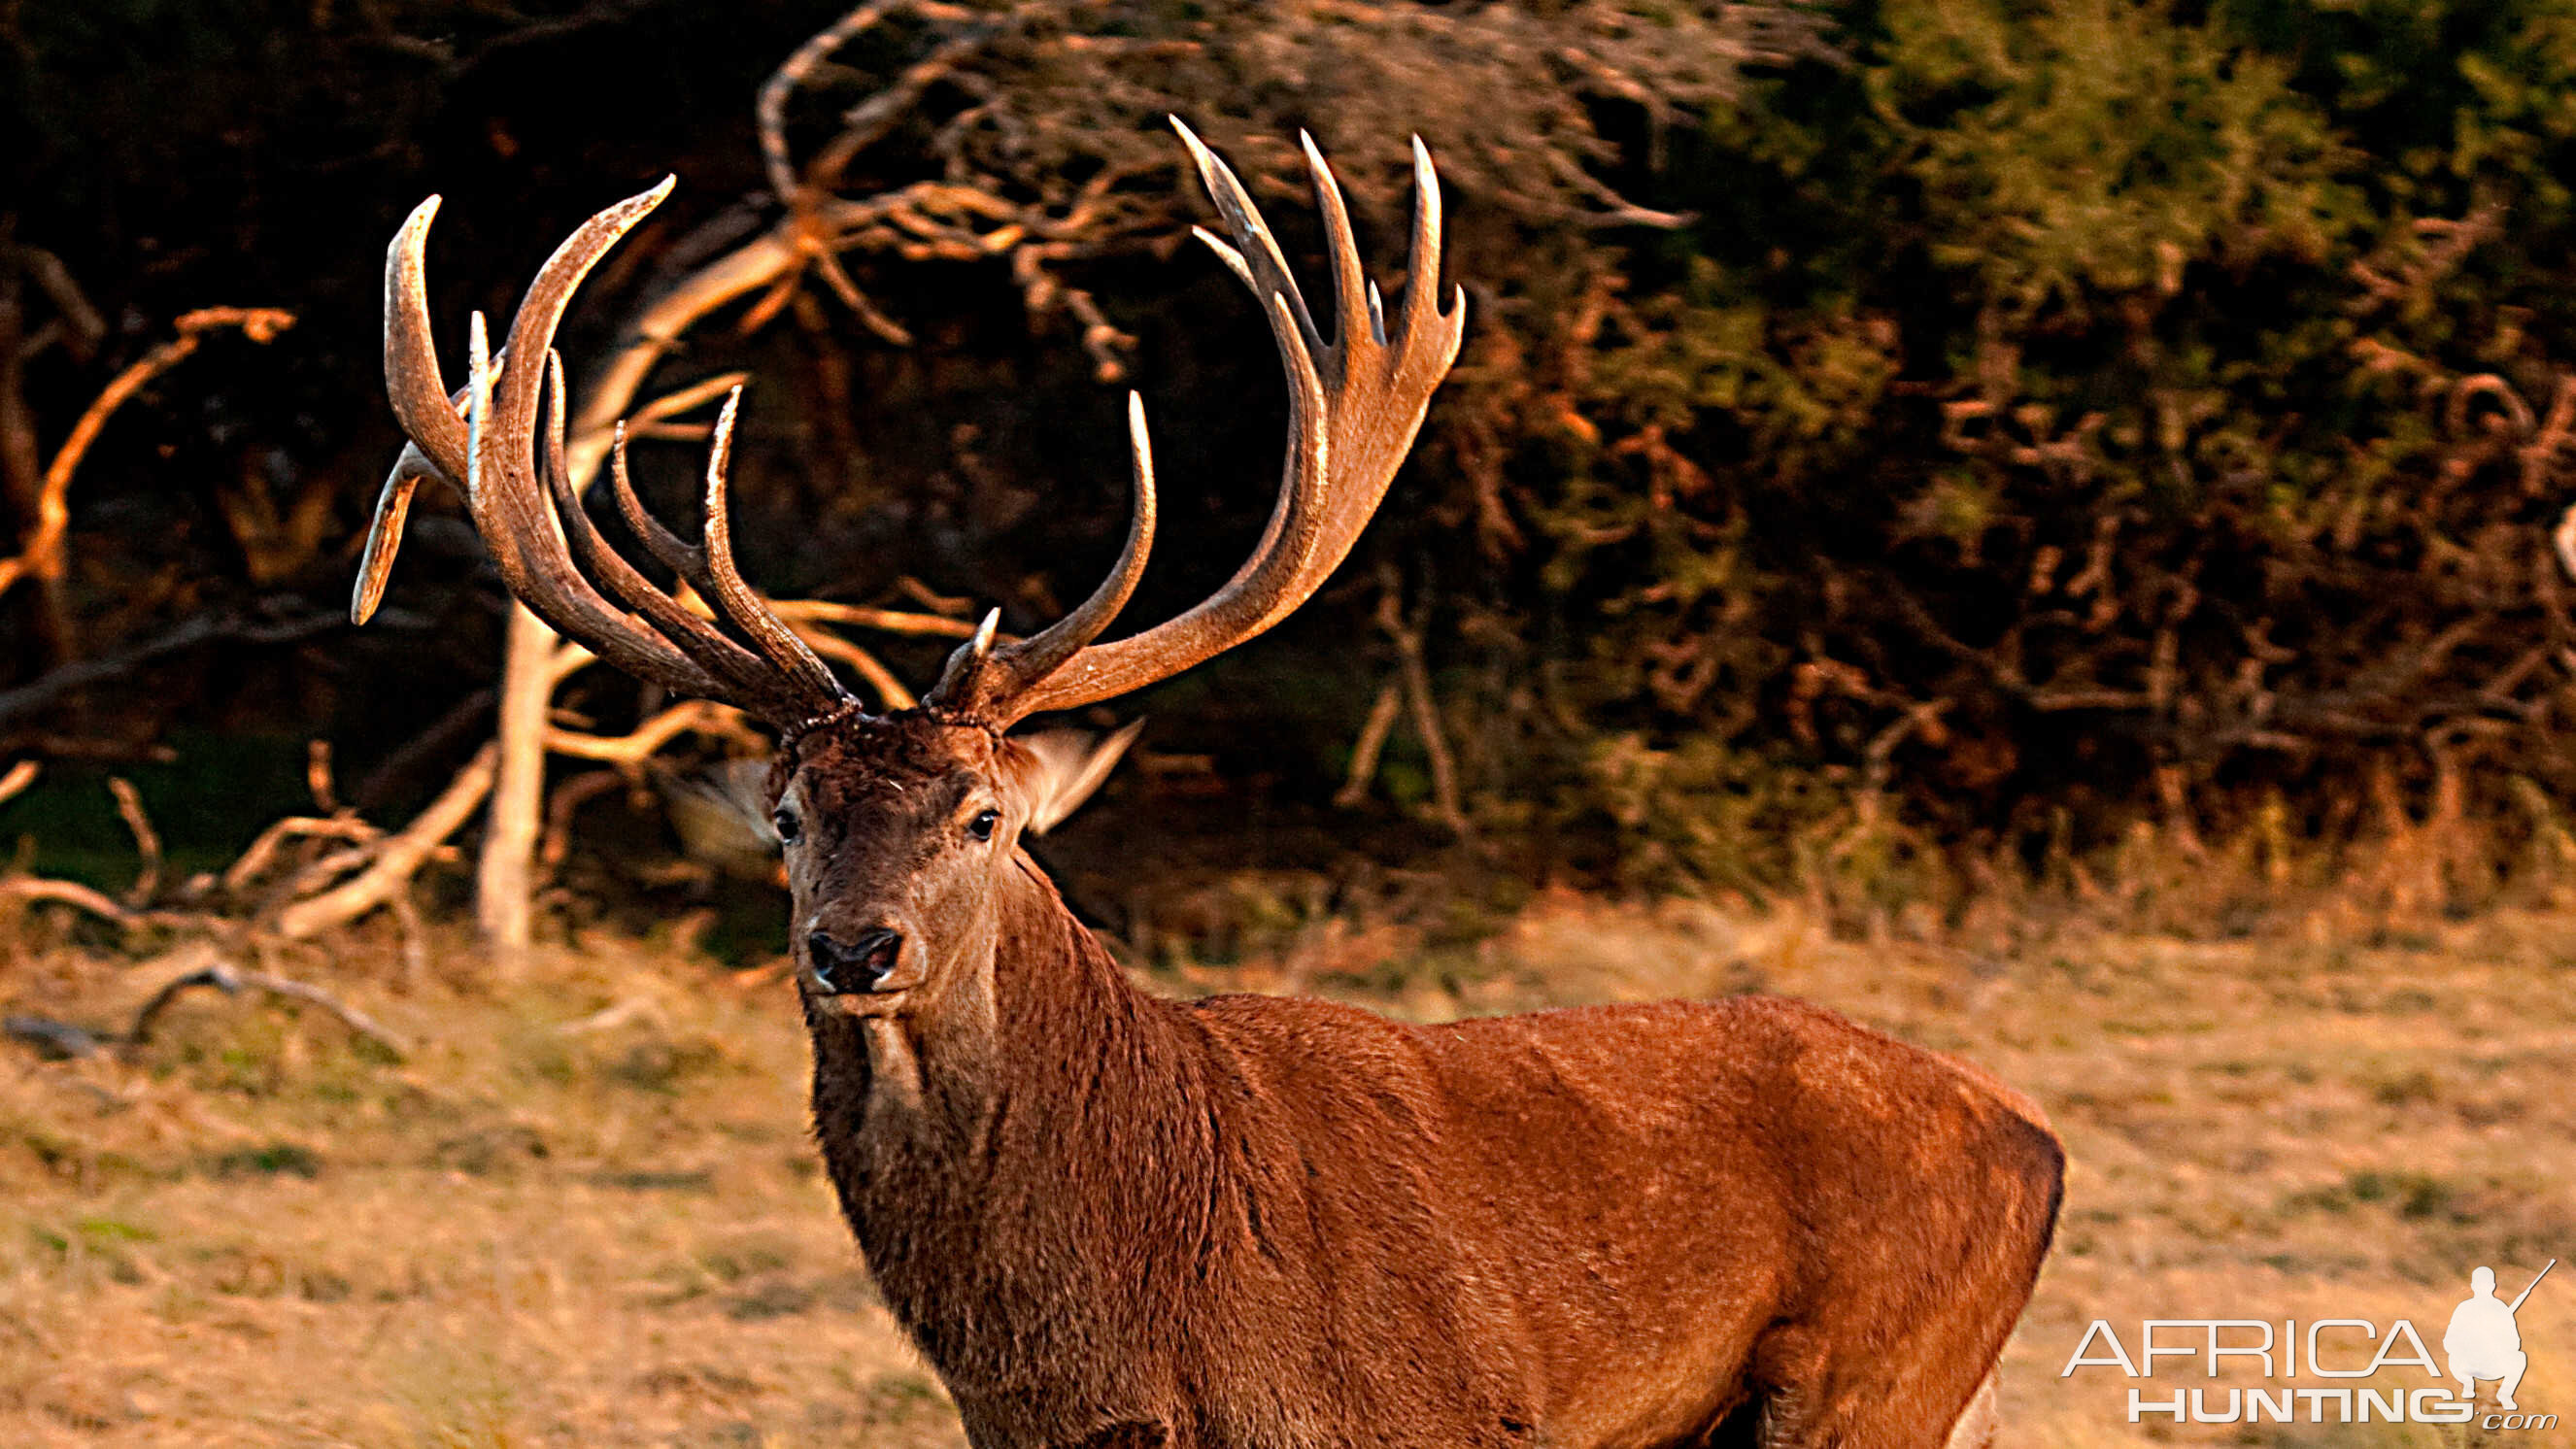
[[[2112,1369],[2056,1377],[2094,1318],[2136,1351],[2141,1318],[2403,1315],[2439,1351],[2470,1266],[2514,1292],[2576,1256],[2568,927],[2367,947],[2069,937],[1991,960],[1540,901],[1479,947],[1332,927],[1159,988],[1334,991],[1417,1019],[1811,996],[1984,1060],[2071,1148],[2004,1444],[2576,1441],[2177,1434],[2128,1426]],[[121,1022],[198,952],[0,955],[0,1006]],[[497,983],[451,947],[410,991],[363,950],[270,968],[415,1050],[392,1060],[322,1011],[211,991],[129,1060],[0,1045],[0,1444],[958,1441],[817,1171],[791,986],[616,939]],[[2522,1313],[2522,1403],[2576,1418],[2571,1269]],[[2154,1387],[2205,1385],[2166,1367]]]

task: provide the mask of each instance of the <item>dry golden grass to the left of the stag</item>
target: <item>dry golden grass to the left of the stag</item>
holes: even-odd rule
[[[44,965],[15,1006],[98,1022],[152,970]],[[134,1066],[8,1058],[0,1444],[953,1444],[786,991],[603,947],[371,993],[402,1066],[214,993]]]

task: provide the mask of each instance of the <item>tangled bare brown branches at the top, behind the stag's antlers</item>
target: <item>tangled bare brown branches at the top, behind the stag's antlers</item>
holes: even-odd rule
[[[819,98],[824,62],[863,33],[899,28],[909,59],[850,103],[799,165],[801,95]],[[755,247],[773,257],[744,327],[775,317],[817,275],[863,327],[909,345],[853,273],[853,255],[894,263],[1002,260],[1033,322],[1069,317],[1097,381],[1126,376],[1133,337],[1066,268],[1177,239],[1190,221],[1172,185],[1159,121],[1203,118],[1255,190],[1296,190],[1288,136],[1321,136],[1365,206],[1401,196],[1404,139],[1443,157],[1443,175],[1481,203],[1533,224],[1677,226],[1597,172],[1618,147],[1597,131],[1600,100],[1636,106],[1662,131],[1734,88],[1744,62],[1826,54],[1821,26],[1790,10],[1695,5],[1638,15],[1574,3],[1435,10],[1231,0],[1175,13],[1141,0],[956,5],[871,0],[817,31],[762,85],[760,160],[783,219]],[[1551,85],[1530,85],[1551,77]],[[1211,98],[1244,113],[1208,113]],[[907,157],[878,152],[912,129]],[[1535,147],[1533,147],[1535,139]],[[1662,142],[1656,139],[1656,147]],[[922,165],[935,175],[860,170]],[[863,190],[863,196],[848,196]]]

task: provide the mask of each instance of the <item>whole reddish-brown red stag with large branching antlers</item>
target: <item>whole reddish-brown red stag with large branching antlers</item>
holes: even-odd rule
[[[595,533],[549,347],[582,273],[667,193],[592,216],[448,394],[422,242],[386,263],[412,438],[358,584],[420,476],[456,484],[510,592],[611,664],[778,726],[770,800],[814,1037],[814,1130],[868,1269],[979,1446],[1984,1444],[1994,1364],[2056,1225],[2040,1112],[1958,1060],[1780,999],[1404,1027],[1352,1006],[1136,991],[1020,852],[1074,780],[1007,736],[1296,610],[1368,522],[1458,355],[1440,193],[1414,149],[1394,304],[1309,144],[1332,340],[1244,188],[1182,129],[1291,391],[1270,530],[1213,597],[1095,643],[1154,533],[1056,625],[961,646],[868,713],[734,569],[726,404],[703,543],[626,522],[721,623]],[[544,427],[538,412],[544,407]],[[608,589],[608,602],[598,589]]]

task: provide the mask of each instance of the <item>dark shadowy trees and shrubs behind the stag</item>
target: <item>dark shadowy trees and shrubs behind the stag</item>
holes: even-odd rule
[[[1061,216],[1061,245],[884,237],[850,252],[876,324],[811,288],[665,368],[757,373],[737,535],[781,595],[886,602],[912,577],[1043,623],[1115,551],[1139,386],[1167,515],[1133,618],[1185,607],[1257,533],[1285,407],[1234,283],[1177,250],[1200,201],[1162,111],[1257,178],[1291,245],[1298,126],[1378,239],[1401,237],[1406,131],[1443,162],[1476,322],[1414,466],[1316,605],[1133,703],[1154,746],[1213,757],[1211,824],[1327,808],[1399,677],[1394,587],[1479,857],[1520,880],[1806,891],[1878,921],[2136,901],[2184,865],[2244,901],[2308,880],[2465,906],[2576,857],[2548,553],[2576,430],[2576,5],[958,10],[976,46],[835,190],[966,175]],[[0,597],[10,749],[162,752],[147,788],[209,852],[294,803],[307,736],[371,808],[435,788],[479,734],[407,741],[489,687],[500,638],[451,504],[415,522],[389,625],[23,690],[191,618],[337,610],[394,450],[399,216],[446,193],[433,296],[461,335],[572,224],[677,172],[592,283],[580,355],[773,214],[752,93],[835,15],[0,5],[10,502],[175,314],[299,314],[265,347],[209,340],[100,435],[70,574]],[[863,36],[793,142],[824,147],[940,36]],[[677,502],[683,456],[654,463]],[[927,679],[938,646],[884,654]],[[1378,849],[1445,839],[1409,824],[1430,795],[1396,728],[1360,816]],[[113,844],[67,816],[49,849]]]

